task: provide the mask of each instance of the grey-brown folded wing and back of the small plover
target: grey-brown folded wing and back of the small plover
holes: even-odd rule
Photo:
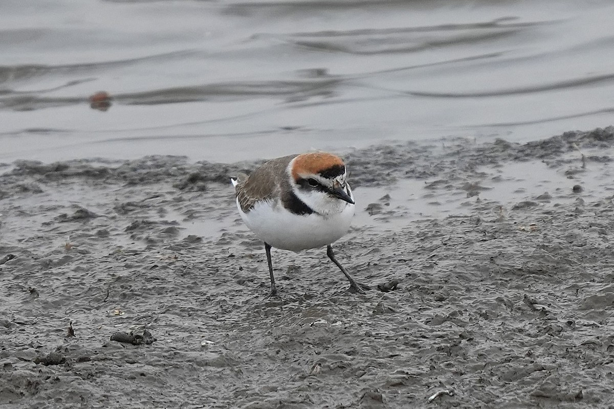
[[[258,201],[278,196],[281,186],[288,186],[286,168],[295,156],[271,159],[254,170],[249,177],[239,176],[235,190],[243,212],[252,210]]]

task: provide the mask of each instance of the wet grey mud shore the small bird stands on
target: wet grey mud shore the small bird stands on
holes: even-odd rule
[[[614,407],[613,147],[349,152],[334,247],[372,289],[274,250],[276,298],[229,182],[257,163],[0,164],[0,405]]]

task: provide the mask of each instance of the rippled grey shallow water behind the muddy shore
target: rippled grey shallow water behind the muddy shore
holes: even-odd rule
[[[609,1],[7,0],[0,161],[232,162],[612,123]],[[88,96],[114,98],[106,112]]]

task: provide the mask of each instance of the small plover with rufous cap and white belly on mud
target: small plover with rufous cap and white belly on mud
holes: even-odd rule
[[[271,278],[269,296],[277,295],[271,248],[299,252],[326,246],[326,254],[350,283],[349,291],[363,293],[335,258],[332,243],[349,231],[354,195],[343,160],[332,153],[308,152],[271,159],[249,176],[231,178],[236,206],[249,229],[265,245]]]

